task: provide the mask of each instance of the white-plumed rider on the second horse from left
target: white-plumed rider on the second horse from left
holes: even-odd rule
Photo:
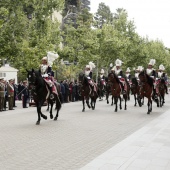
[[[95,64],[90,61],[89,64],[86,65],[85,71],[84,71],[85,76],[86,76],[88,83],[89,83],[90,94],[92,94],[94,91],[97,93],[96,85],[95,85],[94,81],[92,80],[92,75],[93,75],[92,70],[95,67],[96,67]]]

